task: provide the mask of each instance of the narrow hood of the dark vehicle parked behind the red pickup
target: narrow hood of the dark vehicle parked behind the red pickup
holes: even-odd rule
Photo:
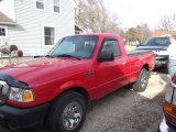
[[[168,46],[138,46],[136,50],[144,51],[166,51]]]

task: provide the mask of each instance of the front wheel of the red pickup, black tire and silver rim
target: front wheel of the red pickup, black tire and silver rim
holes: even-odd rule
[[[48,132],[78,132],[85,121],[87,101],[75,91],[61,95],[53,103],[46,122]]]

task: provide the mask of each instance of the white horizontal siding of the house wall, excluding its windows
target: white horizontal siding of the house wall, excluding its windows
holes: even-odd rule
[[[44,45],[44,26],[55,28],[55,42],[74,34],[74,7],[61,0],[61,13],[53,12],[53,0],[45,0],[45,11],[35,9],[35,0],[15,0],[16,26],[9,26],[9,43],[25,55],[46,54],[53,46]]]

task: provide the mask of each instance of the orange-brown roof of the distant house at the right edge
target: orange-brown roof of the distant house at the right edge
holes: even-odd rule
[[[155,31],[152,33],[153,37],[162,36],[162,35],[174,35],[176,36],[176,31]]]

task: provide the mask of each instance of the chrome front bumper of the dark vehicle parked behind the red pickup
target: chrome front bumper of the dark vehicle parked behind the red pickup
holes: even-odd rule
[[[168,64],[168,55],[157,55],[155,57],[156,67],[167,66],[167,64]]]

